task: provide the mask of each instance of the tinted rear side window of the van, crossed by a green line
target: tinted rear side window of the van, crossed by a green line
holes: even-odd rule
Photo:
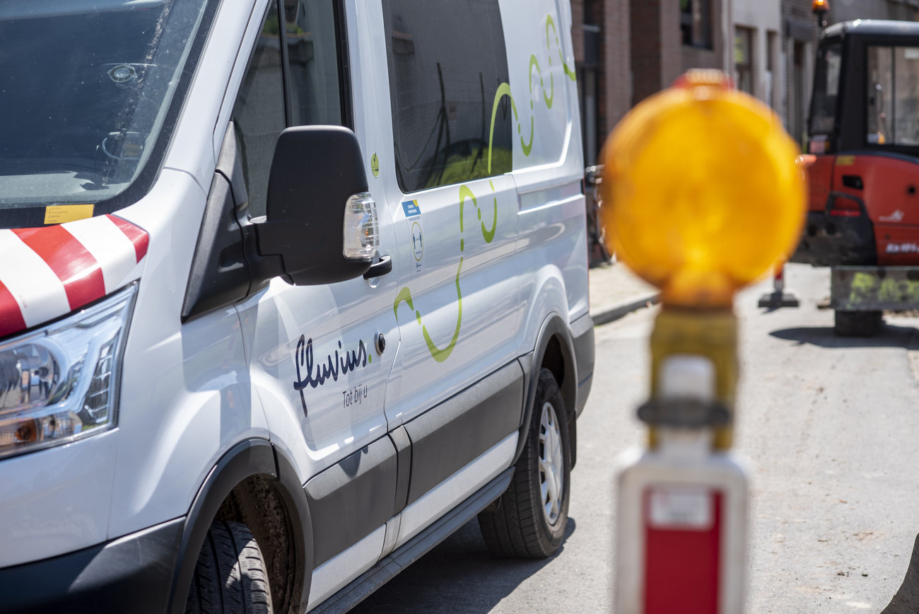
[[[509,172],[510,97],[500,97],[492,130],[508,83],[498,1],[384,0],[383,18],[403,192]]]

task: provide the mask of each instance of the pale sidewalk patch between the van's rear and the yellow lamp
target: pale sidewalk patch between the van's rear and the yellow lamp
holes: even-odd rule
[[[607,324],[657,303],[659,291],[621,263],[590,269],[590,314],[594,324]]]

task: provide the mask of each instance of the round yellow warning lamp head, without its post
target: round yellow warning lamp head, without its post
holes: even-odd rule
[[[662,302],[728,307],[788,256],[805,191],[795,143],[717,71],[690,71],[619,122],[604,150],[607,248]]]

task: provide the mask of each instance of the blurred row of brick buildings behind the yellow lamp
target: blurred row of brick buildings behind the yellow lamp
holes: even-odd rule
[[[689,68],[719,68],[804,145],[819,35],[811,0],[572,0],[584,162],[630,108]],[[828,23],[919,18],[919,0],[830,0]]]

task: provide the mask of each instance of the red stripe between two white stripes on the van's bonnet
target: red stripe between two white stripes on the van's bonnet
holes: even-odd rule
[[[13,233],[61,279],[71,309],[106,295],[105,279],[96,258],[63,226],[18,228]]]

